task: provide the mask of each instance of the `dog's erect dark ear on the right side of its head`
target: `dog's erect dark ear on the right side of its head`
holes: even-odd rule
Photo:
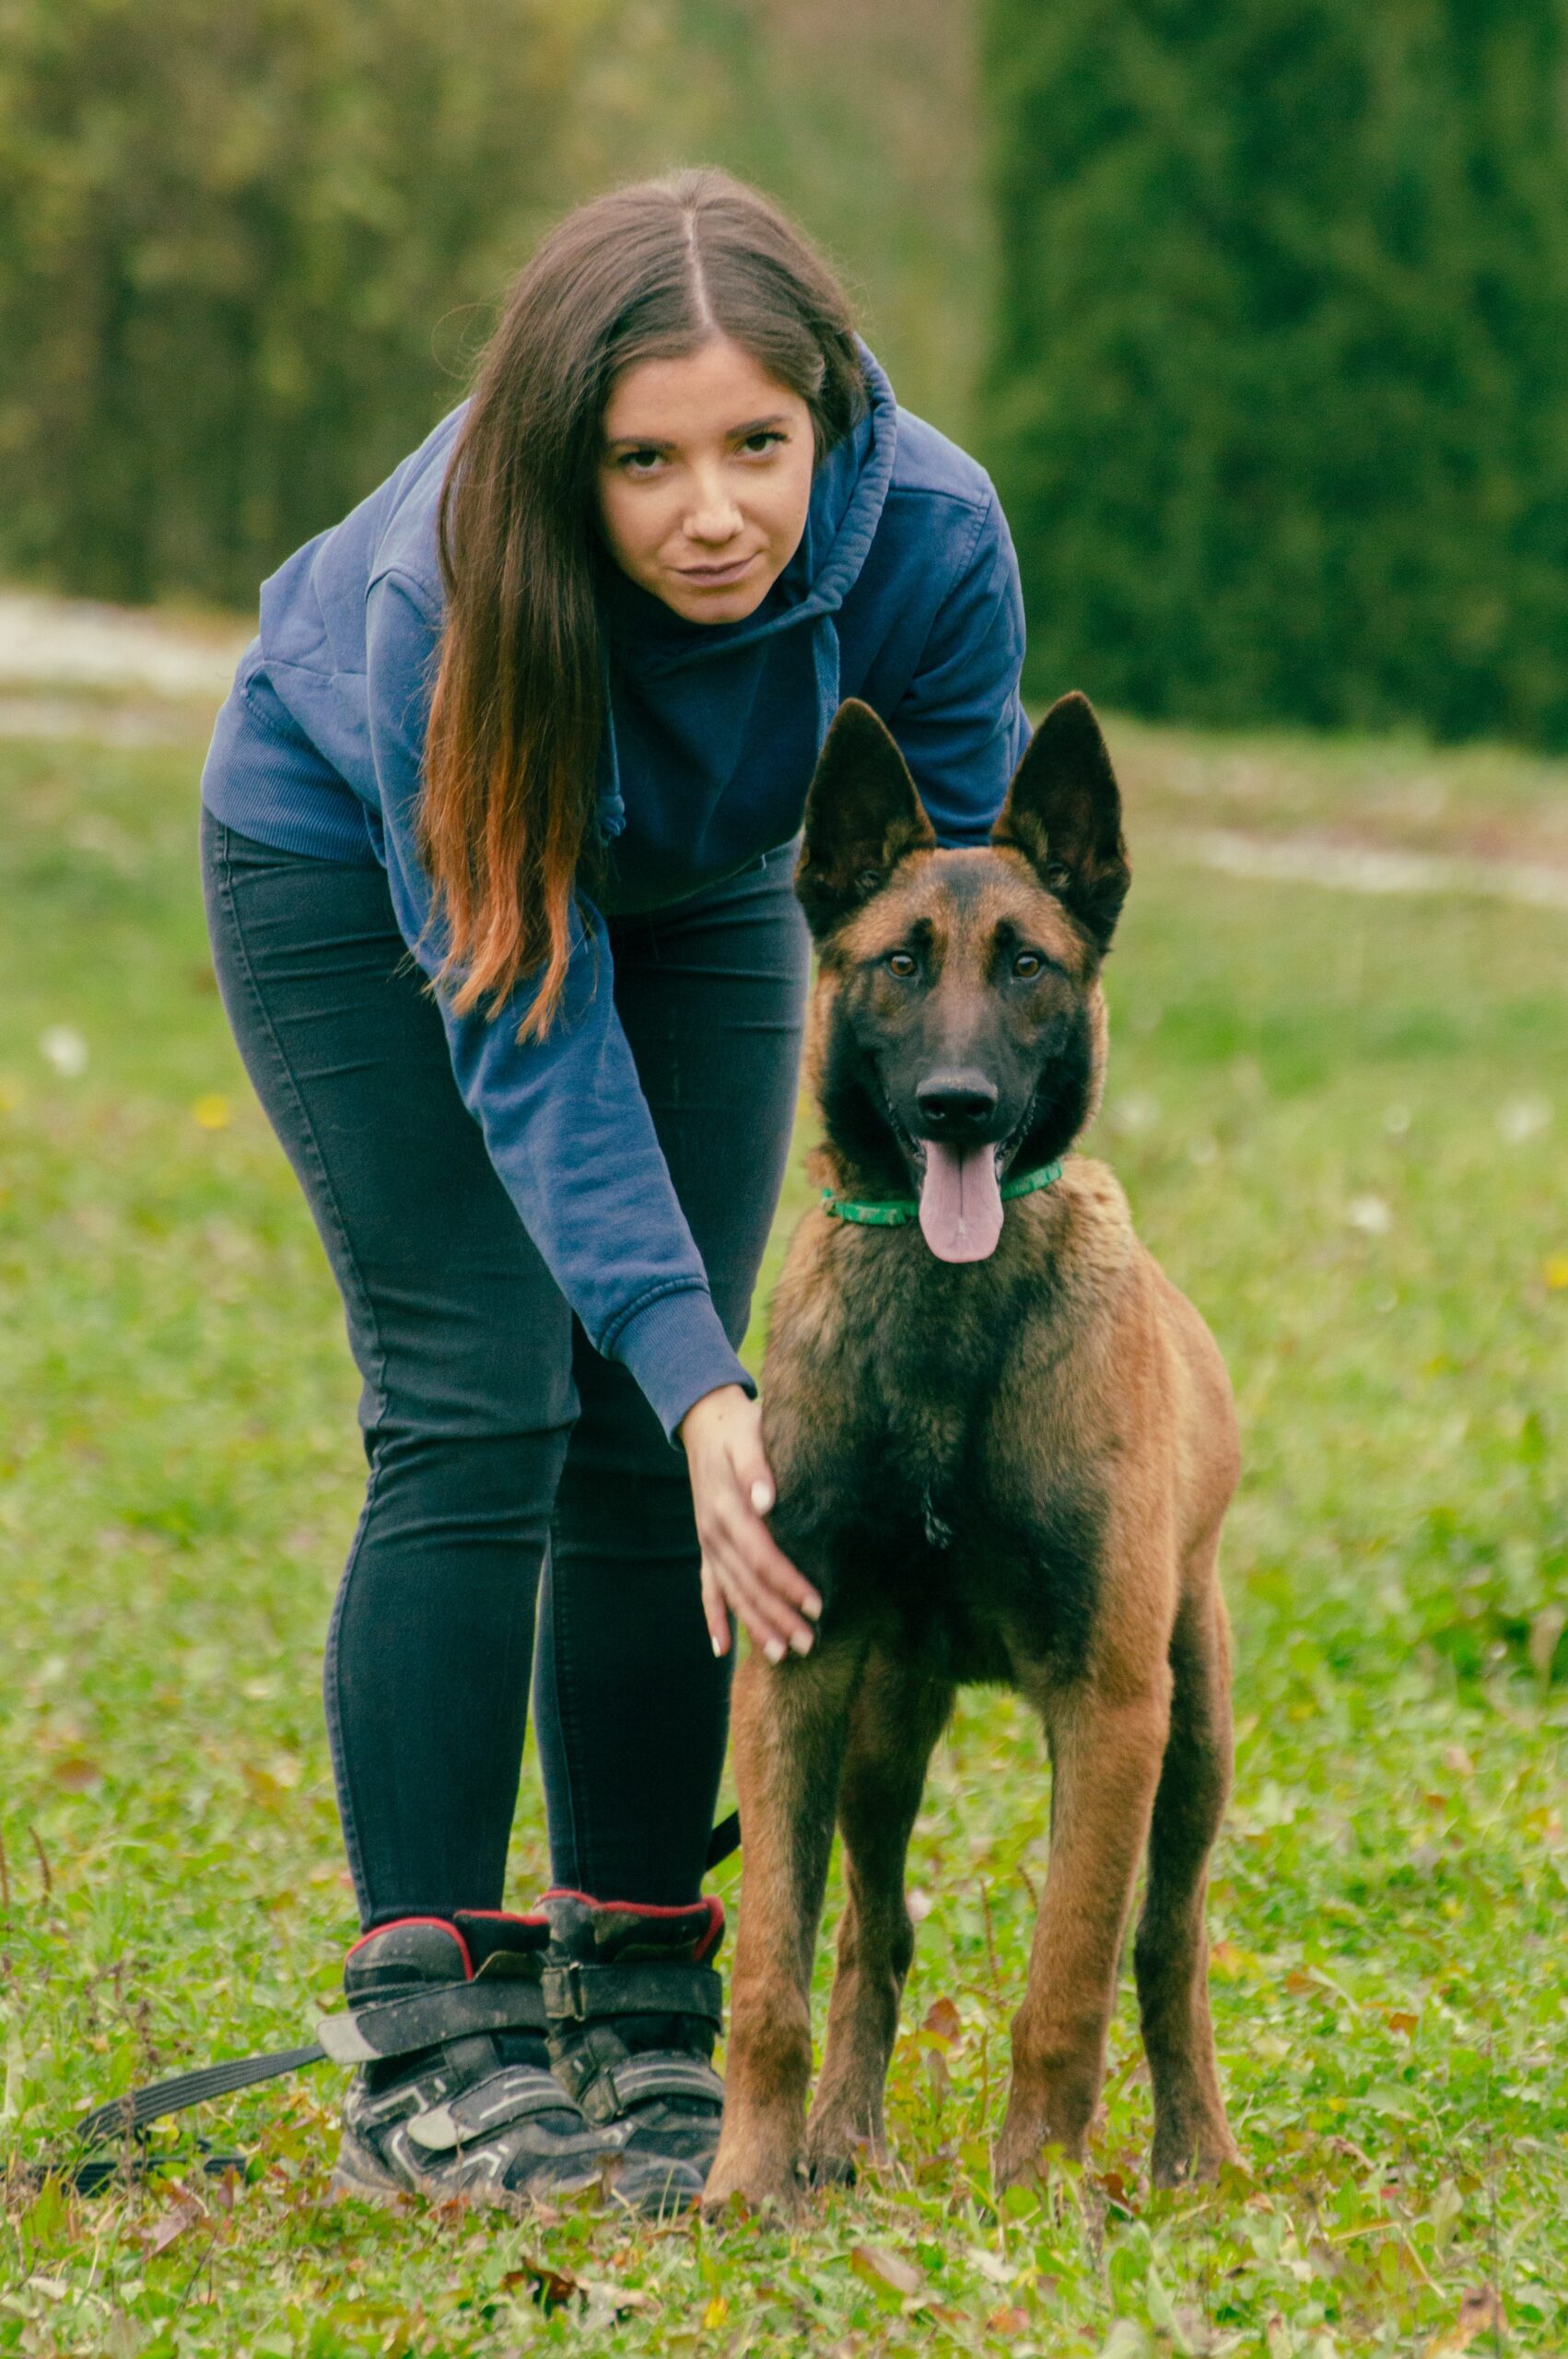
[[[1059,696],[1045,715],[990,840],[1021,852],[1099,951],[1111,948],[1132,868],[1122,797],[1087,696]]]

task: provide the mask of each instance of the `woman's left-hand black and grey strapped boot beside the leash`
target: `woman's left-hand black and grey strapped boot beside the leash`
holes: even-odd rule
[[[335,2196],[493,2203],[578,2194],[625,2144],[589,2123],[549,2071],[545,1918],[460,1911],[401,1918],[344,1960],[347,2015],[321,2045],[358,2064],[344,2095]]]

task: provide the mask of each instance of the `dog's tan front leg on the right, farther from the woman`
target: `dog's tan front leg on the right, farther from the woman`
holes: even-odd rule
[[[995,2151],[997,2189],[1035,2177],[1042,2147],[1080,2158],[1106,2074],[1106,2029],[1148,1838],[1170,1675],[1111,1698],[1092,1680],[1037,1698],[1052,1739],[1052,1864],[1012,2026],[1012,2092]]]

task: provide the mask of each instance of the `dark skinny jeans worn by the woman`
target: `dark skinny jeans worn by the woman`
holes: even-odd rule
[[[783,849],[611,920],[615,1007],[736,1345],[795,1116],[790,873]],[[531,1670],[552,1880],[689,1901],[729,1658],[703,1625],[686,1460],[495,1177],[382,870],[203,814],[203,880],[224,1007],[363,1375],[370,1481],[325,1656],[361,1920],[500,1906]]]

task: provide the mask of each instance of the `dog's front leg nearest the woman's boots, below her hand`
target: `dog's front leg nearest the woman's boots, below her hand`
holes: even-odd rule
[[[733,2194],[788,2213],[804,2189],[811,1953],[861,1656],[854,1642],[821,1637],[813,1654],[778,1665],[752,1651],[736,1675],[740,1937],[710,2215]]]

